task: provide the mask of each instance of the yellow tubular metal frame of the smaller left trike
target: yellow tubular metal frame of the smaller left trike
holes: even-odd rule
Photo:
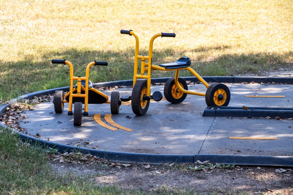
[[[98,91],[95,88],[91,88],[88,89],[88,77],[89,77],[89,70],[91,68],[92,65],[95,65],[95,62],[91,62],[86,66],[86,76],[85,77],[74,77],[73,76],[73,65],[71,64],[71,62],[65,60],[65,63],[67,65],[69,65],[70,67],[70,85],[69,85],[69,92],[67,92],[67,94],[65,94],[64,99],[67,98],[67,96],[69,96],[69,102],[66,100],[63,100],[63,103],[69,103],[69,108],[68,111],[71,112],[72,111],[72,98],[73,97],[82,97],[84,98],[84,112],[88,111],[88,90],[94,91],[97,94],[100,94],[101,96],[106,98],[106,103],[110,103],[108,101],[108,96],[103,94],[102,92]],[[73,88],[73,81],[76,80],[77,81],[77,89]],[[86,81],[86,85],[85,87],[81,85],[81,81],[85,80]],[[85,92],[85,94],[81,94],[81,90],[83,90]],[[77,91],[77,92],[76,92]],[[73,92],[76,92],[76,94],[74,94]]]

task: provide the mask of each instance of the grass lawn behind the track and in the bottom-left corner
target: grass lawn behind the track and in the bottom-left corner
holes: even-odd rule
[[[292,0],[2,0],[0,103],[68,86],[69,67],[51,64],[52,59],[66,58],[81,76],[89,62],[108,61],[107,67],[91,68],[93,82],[132,79],[135,40],[121,29],[138,34],[141,55],[148,55],[152,35],[176,33],[155,40],[153,63],[188,56],[201,76],[292,69],[292,26]],[[0,130],[0,194],[147,194],[99,187],[88,180],[92,176],[56,175],[37,147],[23,146],[16,135]]]

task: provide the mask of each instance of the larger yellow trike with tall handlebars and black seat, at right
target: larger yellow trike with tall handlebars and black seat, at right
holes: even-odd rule
[[[164,86],[164,96],[166,100],[171,103],[182,102],[187,94],[205,96],[207,106],[228,106],[230,101],[230,90],[225,84],[214,83],[209,85],[200,75],[198,75],[192,68],[190,68],[190,59],[182,57],[176,62],[153,65],[153,42],[157,37],[175,37],[175,33],[158,33],[151,37],[149,43],[149,56],[139,55],[139,38],[132,30],[121,30],[121,34],[133,35],[135,38],[135,54],[134,54],[134,77],[132,96],[121,97],[122,101],[131,99],[132,111],[136,115],[144,115],[149,108],[149,101],[151,99],[160,101],[162,99],[161,92],[154,92],[151,95],[151,71],[152,70],[175,70],[175,77],[167,80]],[[141,60],[141,69],[138,73],[138,61]],[[146,60],[148,62],[146,62]],[[188,91],[187,83],[184,79],[179,78],[180,70],[190,71],[202,84],[207,87],[206,93]],[[145,75],[147,72],[147,75]],[[137,80],[146,79],[146,80]]]

